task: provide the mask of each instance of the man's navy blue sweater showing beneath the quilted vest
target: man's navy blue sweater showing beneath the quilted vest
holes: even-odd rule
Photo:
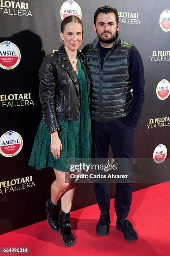
[[[101,69],[103,67],[104,57],[110,48],[104,48],[100,46],[100,58],[101,58]],[[139,51],[132,46],[129,53],[129,75],[131,80],[131,86],[133,89],[132,108],[130,113],[130,120],[133,127],[136,127],[137,122],[140,118],[142,105],[144,101],[144,68],[142,58]]]

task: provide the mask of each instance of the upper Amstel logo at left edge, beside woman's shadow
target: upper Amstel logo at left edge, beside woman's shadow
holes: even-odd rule
[[[0,43],[0,67],[14,69],[20,63],[20,50],[10,41]]]

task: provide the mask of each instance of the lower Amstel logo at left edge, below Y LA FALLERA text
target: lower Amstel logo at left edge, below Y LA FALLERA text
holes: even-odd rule
[[[8,131],[0,137],[0,154],[3,156],[16,156],[22,147],[23,138],[15,131]]]

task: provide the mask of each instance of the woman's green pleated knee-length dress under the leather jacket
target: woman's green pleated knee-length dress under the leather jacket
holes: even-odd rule
[[[58,136],[61,140],[62,151],[60,159],[55,159],[51,153],[51,135],[48,133],[43,118],[38,128],[30,155],[29,165],[38,170],[47,167],[61,172],[68,172],[67,159],[81,159],[91,157],[91,118],[89,112],[87,80],[81,62],[78,59],[78,75],[80,90],[80,111],[76,121],[60,120],[61,130]]]

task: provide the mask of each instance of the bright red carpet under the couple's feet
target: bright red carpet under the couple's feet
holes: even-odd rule
[[[30,256],[170,255],[169,183],[157,184],[133,193],[128,218],[137,230],[137,241],[127,242],[122,233],[116,230],[114,200],[111,200],[111,208],[112,225],[108,236],[96,236],[95,226],[99,210],[97,205],[92,205],[71,213],[73,233],[76,237],[76,244],[71,248],[63,246],[59,233],[54,233],[46,221],[1,235],[0,247],[29,247]]]

